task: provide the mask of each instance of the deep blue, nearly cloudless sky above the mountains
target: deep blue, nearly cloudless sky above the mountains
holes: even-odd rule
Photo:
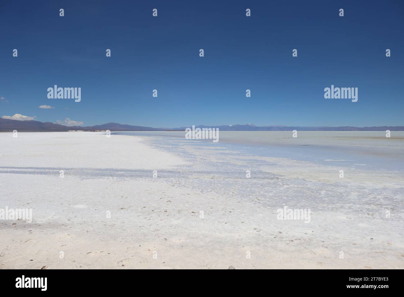
[[[86,126],[404,125],[403,1],[305,2],[2,0],[0,116]],[[48,99],[54,84],[81,87],[81,102]],[[358,87],[358,102],[324,99],[331,84]]]

